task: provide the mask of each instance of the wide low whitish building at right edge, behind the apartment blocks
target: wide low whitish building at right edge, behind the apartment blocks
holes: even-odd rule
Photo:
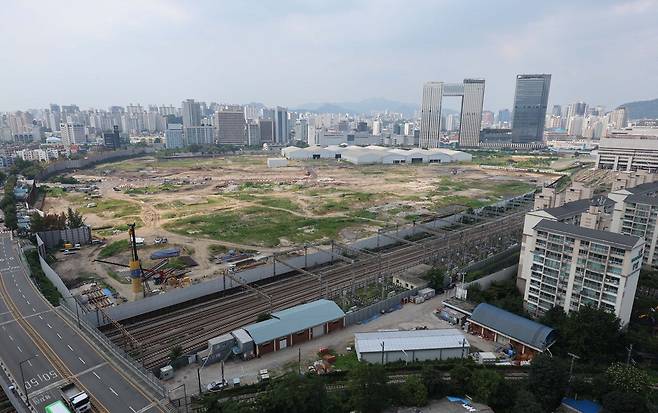
[[[613,171],[658,171],[658,134],[629,131],[601,138],[596,167]]]

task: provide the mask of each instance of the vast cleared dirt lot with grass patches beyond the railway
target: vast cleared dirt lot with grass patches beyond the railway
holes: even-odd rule
[[[218,271],[271,262],[271,253],[305,243],[354,242],[385,226],[493,204],[557,176],[466,163],[317,160],[268,168],[267,157],[257,155],[144,157],[70,174],[78,184],[48,184],[44,211],[72,207],[84,214],[98,244],[70,256],[59,253],[56,269],[70,274],[70,281],[100,280],[121,303],[142,298],[131,293],[129,269],[95,260],[127,264],[128,224],[136,224],[145,266],[159,264],[151,255],[169,249],[174,256],[167,268],[185,271],[185,282],[152,288],[160,293]]]

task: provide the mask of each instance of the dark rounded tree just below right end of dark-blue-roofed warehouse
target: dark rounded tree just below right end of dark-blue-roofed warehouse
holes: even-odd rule
[[[540,354],[532,360],[528,388],[546,411],[560,405],[569,383],[569,371],[564,361]]]

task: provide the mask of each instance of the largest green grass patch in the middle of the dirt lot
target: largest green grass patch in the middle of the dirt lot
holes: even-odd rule
[[[169,231],[241,244],[279,245],[280,238],[294,243],[335,238],[338,232],[360,222],[354,218],[302,218],[285,211],[249,207],[222,214],[195,215],[165,225]]]

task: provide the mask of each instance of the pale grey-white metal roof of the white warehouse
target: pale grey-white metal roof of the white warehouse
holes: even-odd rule
[[[354,341],[356,351],[359,353],[380,353],[382,351],[382,342],[384,343],[384,351],[470,347],[464,335],[454,328],[355,333]]]

